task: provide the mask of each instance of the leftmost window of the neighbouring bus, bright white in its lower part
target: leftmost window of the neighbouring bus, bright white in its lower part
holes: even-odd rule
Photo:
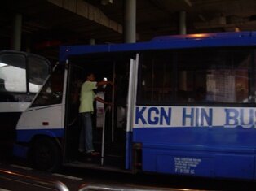
[[[26,59],[24,55],[0,55],[0,92],[27,92],[25,68]]]

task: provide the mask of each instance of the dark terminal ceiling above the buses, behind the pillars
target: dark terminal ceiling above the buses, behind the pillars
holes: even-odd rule
[[[1,49],[11,48],[14,15],[22,15],[22,50],[55,57],[62,44],[123,41],[125,0],[5,0],[0,7]],[[137,41],[179,34],[186,11],[187,33],[256,30],[255,0],[137,0]]]

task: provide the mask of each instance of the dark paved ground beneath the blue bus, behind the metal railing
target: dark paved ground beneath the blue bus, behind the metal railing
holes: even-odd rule
[[[2,154],[1,154],[2,155]],[[132,185],[153,188],[203,189],[203,190],[256,190],[256,181],[216,180],[191,176],[169,176],[139,173],[137,175],[121,172],[90,170],[78,167],[62,167],[55,173],[37,171],[11,156],[0,158],[0,190],[53,190],[52,186],[28,184],[29,177],[46,182],[61,181],[69,190],[78,190],[82,184]],[[4,172],[3,172],[4,171]],[[6,176],[6,172],[11,174]],[[18,180],[13,176],[18,176]],[[3,176],[5,175],[5,176]],[[21,179],[21,180],[20,180]],[[50,189],[51,188],[51,189]]]

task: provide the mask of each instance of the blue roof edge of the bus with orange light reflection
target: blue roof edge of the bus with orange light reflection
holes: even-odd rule
[[[201,33],[155,37],[151,41],[138,43],[60,46],[60,62],[70,56],[90,53],[218,46],[256,46],[256,32]]]

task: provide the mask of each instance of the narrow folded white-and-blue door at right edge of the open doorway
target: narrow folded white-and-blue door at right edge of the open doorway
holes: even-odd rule
[[[138,82],[139,54],[130,59],[129,89],[127,98],[127,124],[126,124],[126,169],[132,167],[132,129],[135,118],[135,105]]]

